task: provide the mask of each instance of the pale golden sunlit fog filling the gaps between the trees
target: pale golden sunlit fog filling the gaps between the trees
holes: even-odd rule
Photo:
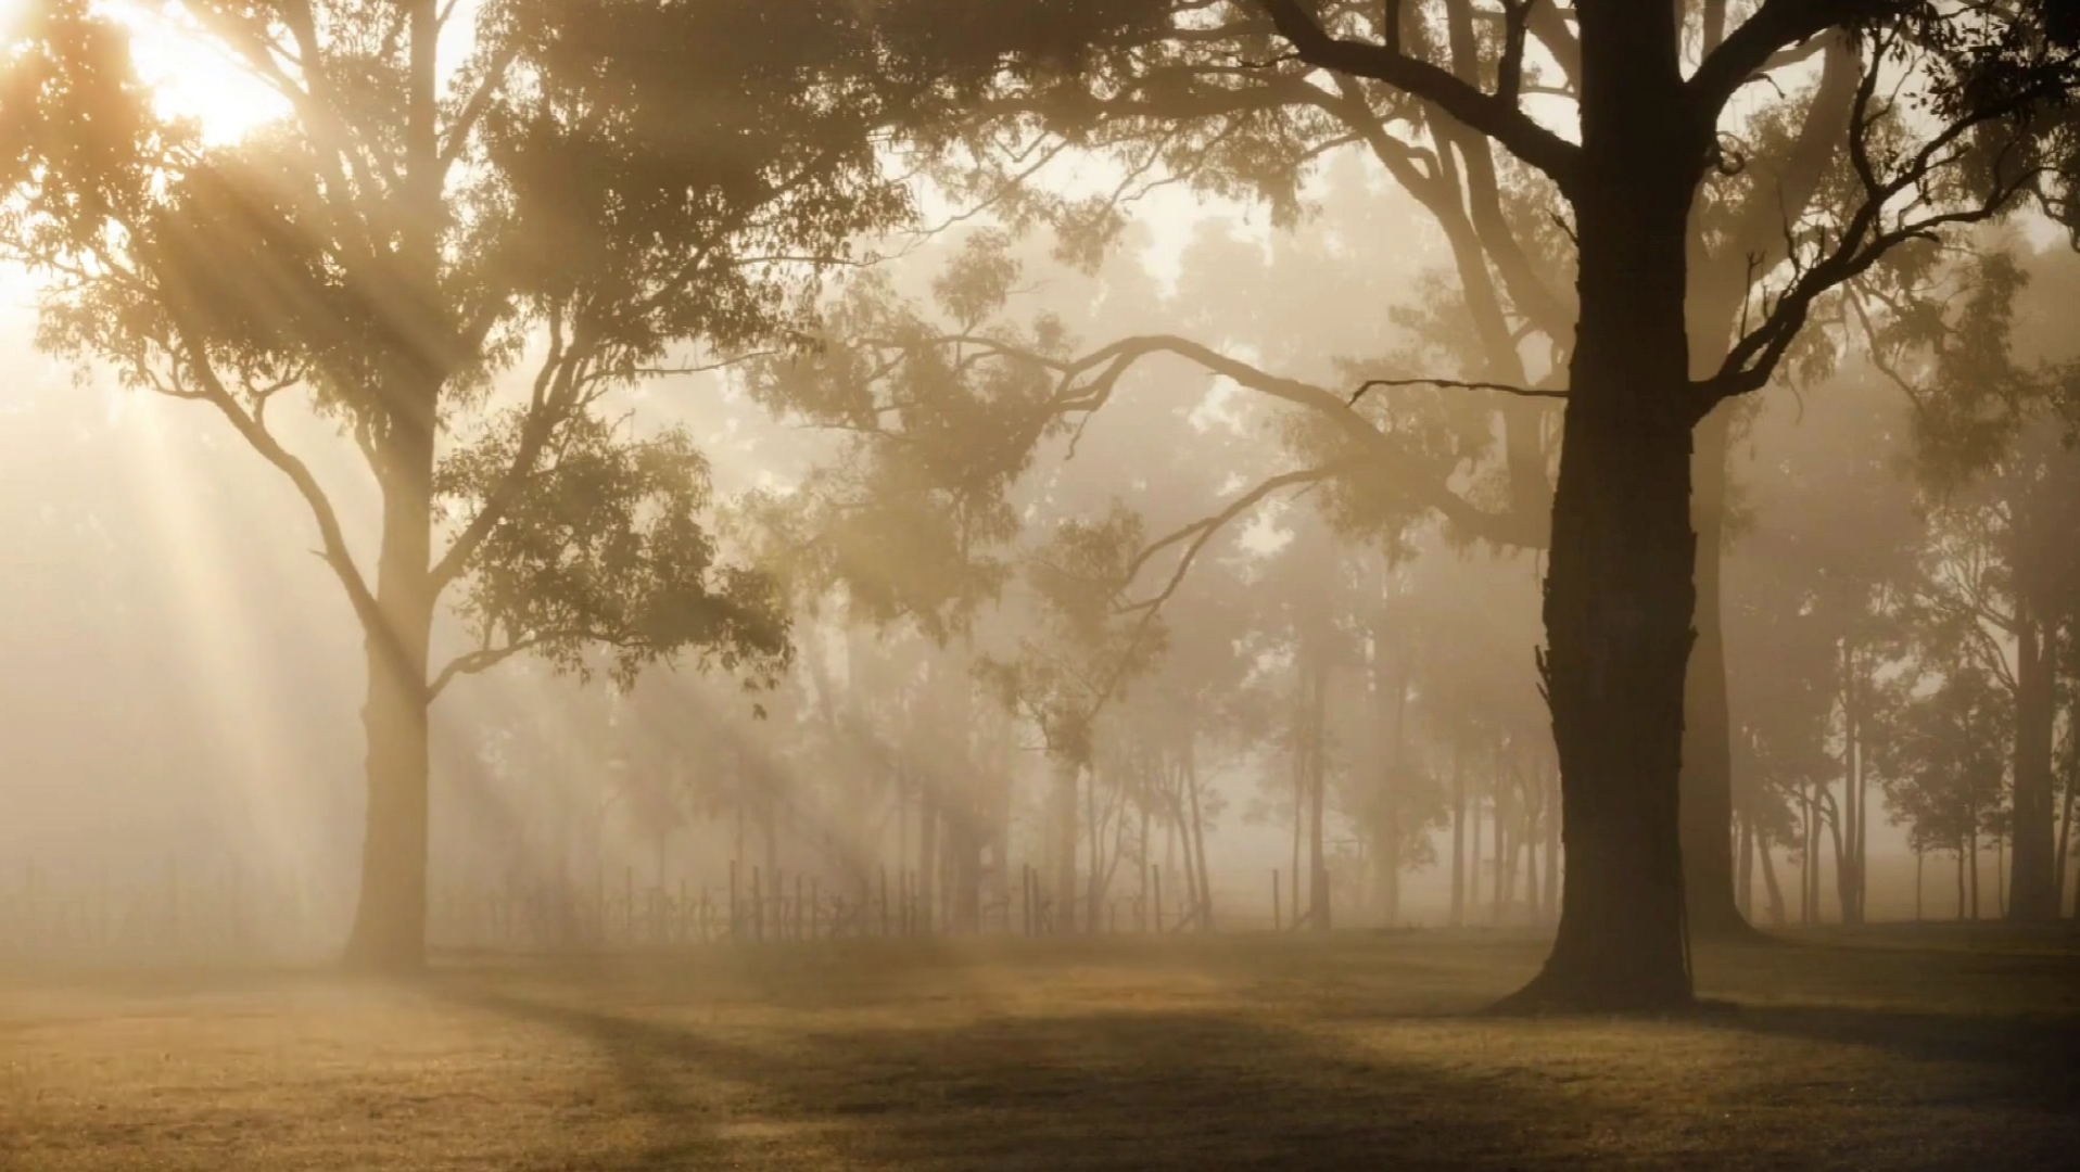
[[[1300,222],[1277,229],[1231,202],[1163,195],[1127,220],[1090,272],[1055,260],[1042,237],[998,241],[982,227],[888,239],[876,247],[892,260],[834,278],[824,297],[836,305],[867,289],[928,303],[951,264],[986,247],[1005,249],[1017,270],[998,320],[1059,316],[1082,343],[1188,335],[1227,359],[1329,389],[1354,382],[1379,355],[1466,345],[1437,305],[1446,243],[1406,195],[1350,150],[1329,156],[1304,195]],[[2016,310],[2018,353],[2072,357],[2059,322],[2074,305],[2080,262],[2043,239],[1988,237],[1984,247],[2016,256],[2034,278]],[[37,894],[46,914],[62,916],[73,902],[85,916],[92,906],[96,943],[131,950],[175,945],[150,929],[150,908],[166,900],[185,900],[191,921],[231,916],[227,904],[243,900],[241,945],[324,956],[347,929],[360,875],[366,667],[352,609],[312,557],[310,515],[279,472],[210,411],[121,387],[96,364],[35,353],[31,301],[33,287],[17,270],[0,434],[10,601],[0,619],[0,663],[8,665],[0,675],[0,742],[8,746],[0,887],[17,900]],[[842,420],[784,399],[795,364],[813,362],[788,359],[749,378],[743,370],[664,378],[626,403],[634,428],[680,424],[697,436],[713,465],[716,524],[740,557],[784,557],[759,532],[768,522],[745,507],[747,495],[813,515],[805,501],[847,503],[847,492],[867,484],[863,461],[903,459],[894,441],[878,449],[834,430]],[[1843,744],[1830,692],[1839,684],[1814,680],[1803,665],[1824,659],[1826,646],[1799,646],[1799,638],[1828,636],[1776,630],[1780,607],[1814,609],[1816,586],[1801,582],[1870,559],[1891,557],[1876,574],[1895,576],[1897,590],[1912,590],[1918,574],[1941,576],[1918,561],[1939,524],[1930,520],[1939,497],[1916,480],[1912,387],[1880,376],[1851,343],[1828,366],[1760,409],[1743,407],[1728,465],[1739,513],[1722,569],[1735,785],[1741,802],[1762,810],[1756,823],[1770,827],[1743,873],[1743,906],[1758,923],[1768,921],[1760,852],[1772,856],[1778,883],[1791,885],[1805,860],[1801,796],[1839,785]],[[751,378],[770,380],[763,401],[749,393]],[[1394,409],[1419,426],[1435,426],[1423,411],[1441,411],[1450,476],[1479,492],[1498,459],[1481,403],[1450,391],[1414,395],[1429,397]],[[811,877],[834,900],[874,879],[886,883],[888,871],[909,883],[919,842],[948,833],[944,821],[926,829],[926,792],[980,810],[963,833],[982,840],[971,867],[988,923],[967,931],[1019,931],[1023,869],[1044,864],[1048,850],[1048,750],[1030,702],[1007,707],[976,675],[978,663],[1005,661],[1019,646],[1052,650],[1044,603],[1019,588],[1019,574],[1046,557],[1048,534],[1063,522],[1123,505],[1152,540],[1221,513],[1325,443],[1306,411],[1190,355],[1136,364],[1111,399],[1077,420],[1073,453],[1069,434],[1040,438],[1030,468],[1003,482],[1013,532],[988,557],[1009,576],[959,630],[919,617],[905,592],[934,586],[913,565],[878,563],[869,542],[847,547],[815,571],[820,580],[803,571],[792,592],[797,659],[770,696],[743,694],[730,671],[703,671],[693,657],[653,663],[632,684],[580,682],[516,657],[445,692],[433,717],[433,943],[555,943],[491,923],[501,900],[543,887],[593,916],[607,914],[603,891],[632,900],[651,910],[612,912],[624,918],[614,931],[659,931],[636,921],[664,914],[657,900],[676,906],[693,891],[724,900],[732,862],[747,889],[751,869],[761,867]],[[329,451],[339,445],[331,424],[308,414],[277,418],[312,453],[349,538],[372,551],[379,517],[366,472]],[[1392,482],[1331,480],[1269,495],[1223,520],[1177,580],[1163,611],[1167,648],[1096,704],[1100,752],[1086,779],[1077,883],[1088,894],[1096,833],[1100,927],[1117,927],[1123,912],[1152,927],[1150,869],[1167,875],[1156,879],[1169,883],[1165,914],[1186,914],[1184,885],[1198,883],[1186,869],[1196,862],[1188,846],[1179,867],[1179,817],[1167,804],[1179,792],[1165,790],[1184,763],[1198,788],[1211,877],[1206,894],[1190,898],[1204,898],[1223,929],[1304,912],[1294,862],[1306,889],[1300,846],[1310,831],[1300,825],[1296,833],[1296,815],[1304,823],[1310,752],[1323,756],[1321,837],[1340,923],[1550,923],[1552,896],[1537,883],[1554,873],[1527,879],[1556,840],[1550,806],[1541,813],[1556,771],[1531,657],[1539,559],[1464,547],[1396,492]],[[842,524],[830,517],[824,524]],[[1154,559],[1136,580],[1140,594],[1173,565],[1175,557]],[[847,605],[847,590],[865,590],[869,601]],[[855,617],[878,605],[884,613]],[[1872,621],[1895,628],[1936,621],[1872,607]],[[460,638],[451,619],[441,628],[449,642]],[[1912,630],[1889,640],[1874,652],[1874,677],[1926,675]],[[1096,655],[1096,669],[1104,650],[1086,655]],[[1310,657],[1323,663],[1312,684],[1319,696],[1308,692]],[[1408,711],[1396,750],[1385,688],[1387,665],[1404,657]],[[1783,692],[1793,684],[1803,688],[1803,711],[1787,711]],[[1321,717],[1310,715],[1317,702]],[[1903,711],[1912,700],[1901,692],[1897,704]],[[959,738],[946,740],[955,736],[942,723],[948,713],[969,723],[965,750],[953,748]],[[2070,758],[2070,709],[2059,729]],[[1785,748],[1772,758],[1760,744]],[[1134,763],[1150,752],[1165,761],[1154,773]],[[1785,761],[1795,752],[1808,761]],[[1466,794],[1456,815],[1454,769]],[[1872,788],[1882,813],[1864,831],[1870,887],[1862,914],[1872,921],[1957,912],[1947,862],[1922,877],[1916,900],[1916,815],[1891,785],[1905,794],[1924,783],[1918,769],[1901,763]],[[1500,873],[1510,885],[1502,906],[1493,902],[1498,775],[1508,825]],[[1379,800],[1396,790],[1398,817],[1414,825],[1396,846],[1398,891],[1387,894]],[[1140,819],[1154,827],[1146,848]],[[1999,914],[1999,823],[1988,823],[1978,844],[1984,916]],[[1930,850],[1953,850],[1922,842],[1924,869]],[[1826,842],[1816,854],[1820,896],[1803,910],[1793,896],[1791,921],[1843,914],[1835,898],[1841,862]],[[955,862],[932,867],[948,869],[942,883],[953,881]],[[1466,885],[1458,912],[1454,869]],[[1285,904],[1277,912],[1275,871]],[[938,898],[951,900],[944,889]],[[934,918],[944,925],[948,914],[951,902]],[[85,948],[79,933],[25,927],[10,948]]]

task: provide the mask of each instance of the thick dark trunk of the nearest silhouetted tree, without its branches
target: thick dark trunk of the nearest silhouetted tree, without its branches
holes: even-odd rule
[[[1545,576],[1566,885],[1510,1004],[1691,1002],[1679,781],[1695,632],[1685,264],[1701,148],[1668,4],[1581,0],[1581,322]],[[1716,833],[1724,833],[1718,829]]]

